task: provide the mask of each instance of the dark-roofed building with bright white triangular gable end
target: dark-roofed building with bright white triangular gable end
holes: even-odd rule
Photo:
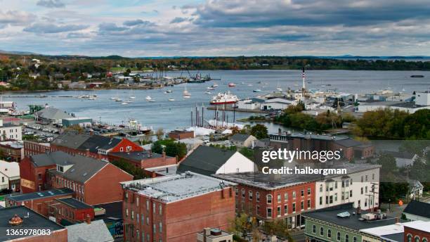
[[[198,146],[178,165],[177,173],[186,171],[210,176],[211,174],[229,174],[235,172],[254,172],[256,165],[237,151]]]

